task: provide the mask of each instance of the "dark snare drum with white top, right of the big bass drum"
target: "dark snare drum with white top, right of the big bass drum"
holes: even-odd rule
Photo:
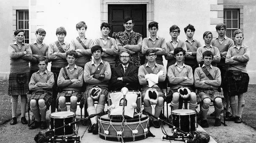
[[[184,132],[196,130],[196,114],[194,110],[177,109],[171,111],[172,124]]]

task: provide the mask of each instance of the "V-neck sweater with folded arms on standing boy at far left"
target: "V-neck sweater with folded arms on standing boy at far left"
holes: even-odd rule
[[[27,52],[25,55],[24,51]],[[16,42],[9,44],[8,54],[10,56],[10,73],[25,73],[30,72],[29,61],[32,59],[30,46],[22,43],[21,47]]]

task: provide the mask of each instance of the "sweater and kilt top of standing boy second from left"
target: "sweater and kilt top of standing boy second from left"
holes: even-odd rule
[[[36,41],[34,43],[30,43],[30,48],[32,51],[32,60],[30,61],[30,70],[39,70],[38,68],[38,63],[37,63],[37,58],[40,56],[44,56],[48,60],[48,45],[43,43],[41,47],[39,47],[36,44]]]

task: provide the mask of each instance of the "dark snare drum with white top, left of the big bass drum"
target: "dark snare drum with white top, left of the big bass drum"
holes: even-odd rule
[[[62,111],[62,112],[54,112],[50,114],[50,130],[56,129],[58,127],[64,126],[71,122],[75,122],[75,114],[74,112]],[[54,135],[64,135],[64,136],[72,136],[75,135],[76,125],[73,124],[71,126],[63,127],[54,131]]]

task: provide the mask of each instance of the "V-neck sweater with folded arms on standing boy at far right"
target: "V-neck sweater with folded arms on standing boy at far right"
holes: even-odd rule
[[[233,59],[231,57],[234,57]],[[226,56],[226,64],[229,64],[228,70],[241,70],[247,73],[246,65],[250,58],[250,49],[246,45],[242,45],[239,49],[231,47],[228,49]]]

